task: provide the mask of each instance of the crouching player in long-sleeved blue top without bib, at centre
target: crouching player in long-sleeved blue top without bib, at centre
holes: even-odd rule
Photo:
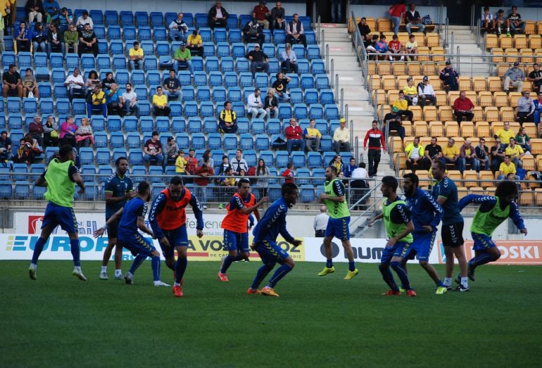
[[[280,234],[288,242],[294,246],[300,246],[301,240],[294,239],[286,230],[286,214],[292,205],[296,204],[298,197],[298,189],[294,183],[282,184],[282,198],[275,201],[263,215],[262,220],[256,224],[253,230],[254,240],[252,248],[256,250],[262,259],[263,266],[258,269],[252,285],[246,291],[249,294],[263,294],[265,296],[279,296],[275,293],[275,285],[280,281],[291,269],[294,268],[294,260],[277,244],[277,236]],[[281,265],[267,285],[261,290],[258,290],[261,282],[269,272],[275,267],[277,262]]]

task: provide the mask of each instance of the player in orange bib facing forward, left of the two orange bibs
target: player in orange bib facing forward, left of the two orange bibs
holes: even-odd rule
[[[184,210],[191,205],[196,216],[196,234],[198,238],[203,236],[203,215],[198,198],[187,188],[184,188],[181,177],[172,177],[168,188],[154,198],[149,214],[149,222],[156,239],[160,242],[160,248],[165,257],[165,265],[174,271],[175,284],[173,294],[177,298],[183,296],[182,277],[187,270],[187,212]],[[175,262],[174,250],[177,250],[177,262]]]

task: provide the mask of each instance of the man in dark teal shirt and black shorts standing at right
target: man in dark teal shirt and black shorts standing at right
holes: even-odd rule
[[[467,258],[465,257],[465,248],[463,247],[463,243],[465,243],[463,241],[464,222],[458,207],[458,187],[446,175],[446,164],[441,160],[435,160],[433,165],[431,165],[431,172],[437,180],[431,194],[433,198],[436,198],[436,201],[442,206],[444,211],[441,231],[444,254],[446,255],[444,286],[448,290],[452,289],[453,256],[455,255],[460,269],[458,291],[469,291]]]

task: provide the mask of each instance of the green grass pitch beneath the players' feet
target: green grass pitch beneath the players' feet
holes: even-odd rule
[[[417,298],[386,297],[376,264],[300,262],[279,298],[247,295],[259,262],[229,269],[189,262],[184,298],[152,286],[150,262],[134,285],[98,279],[100,262],[0,262],[0,367],[540,367],[542,267],[477,269],[469,293],[434,295],[409,265]],[[127,262],[123,265],[127,271]],[[443,276],[443,267],[437,267]],[[395,275],[394,275],[395,276]],[[162,279],[172,273],[162,265]],[[396,278],[397,279],[397,278]]]

